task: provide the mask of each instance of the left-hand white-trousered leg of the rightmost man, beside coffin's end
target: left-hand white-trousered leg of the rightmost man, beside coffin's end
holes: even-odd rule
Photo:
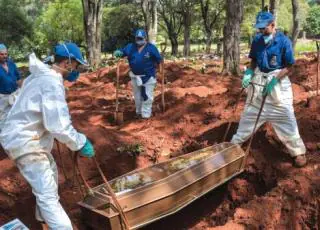
[[[253,128],[256,123],[258,113],[259,113],[258,108],[251,106],[251,105],[246,105],[246,107],[241,115],[241,119],[239,122],[239,127],[237,130],[237,133],[235,135],[233,135],[233,137],[231,139],[231,143],[242,144],[247,139],[249,139],[249,137],[251,136],[251,134],[253,132]],[[257,124],[256,131],[263,123],[265,123],[265,121],[266,121],[266,119],[265,119],[265,115],[264,115],[264,111],[263,111],[261,113],[259,122]]]

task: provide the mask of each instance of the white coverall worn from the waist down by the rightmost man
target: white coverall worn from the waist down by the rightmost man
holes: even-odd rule
[[[280,71],[274,70],[269,73],[263,73],[259,68],[256,68],[251,81],[259,85],[265,85],[266,82],[270,82],[272,77]],[[248,86],[246,105],[237,133],[232,137],[232,143],[241,144],[245,142],[253,132],[262,103],[263,87],[259,85],[254,85],[254,90],[252,85]],[[271,94],[267,96],[257,129],[267,121],[272,124],[278,138],[287,147],[292,157],[305,154],[306,148],[300,137],[294,115],[293,93],[288,77],[280,80]]]

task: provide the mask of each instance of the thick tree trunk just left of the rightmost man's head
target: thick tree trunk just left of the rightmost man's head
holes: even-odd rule
[[[223,73],[239,75],[243,0],[226,0],[226,18],[223,28]]]

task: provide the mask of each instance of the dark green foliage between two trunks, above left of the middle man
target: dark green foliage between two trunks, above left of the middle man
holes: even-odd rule
[[[103,12],[103,50],[112,52],[133,41],[136,29],[144,26],[139,5],[106,7]]]

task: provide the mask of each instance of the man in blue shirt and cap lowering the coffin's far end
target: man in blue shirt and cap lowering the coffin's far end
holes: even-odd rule
[[[294,64],[291,41],[275,29],[274,16],[260,12],[255,27],[260,31],[251,45],[251,65],[245,71],[242,86],[248,88],[246,106],[232,143],[243,143],[252,134],[262,103],[267,95],[257,127],[270,122],[287,147],[296,167],[306,165],[306,148],[300,137],[293,109],[293,94],[288,73]],[[250,84],[254,83],[254,85]],[[265,87],[263,87],[266,85]]]

